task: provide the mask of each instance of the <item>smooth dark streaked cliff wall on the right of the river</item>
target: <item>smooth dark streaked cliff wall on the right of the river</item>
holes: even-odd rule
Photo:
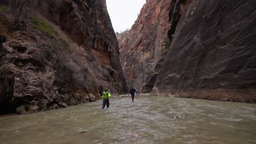
[[[256,2],[172,1],[153,95],[256,102]],[[173,37],[172,37],[173,35]]]

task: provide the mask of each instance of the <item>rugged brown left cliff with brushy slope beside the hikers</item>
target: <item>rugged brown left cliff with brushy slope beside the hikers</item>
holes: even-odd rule
[[[0,2],[0,113],[95,101],[103,87],[127,91],[106,1]]]

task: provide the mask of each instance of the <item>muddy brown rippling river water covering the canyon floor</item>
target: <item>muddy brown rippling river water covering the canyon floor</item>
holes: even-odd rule
[[[0,116],[0,143],[256,143],[255,104],[148,96],[101,104]]]

